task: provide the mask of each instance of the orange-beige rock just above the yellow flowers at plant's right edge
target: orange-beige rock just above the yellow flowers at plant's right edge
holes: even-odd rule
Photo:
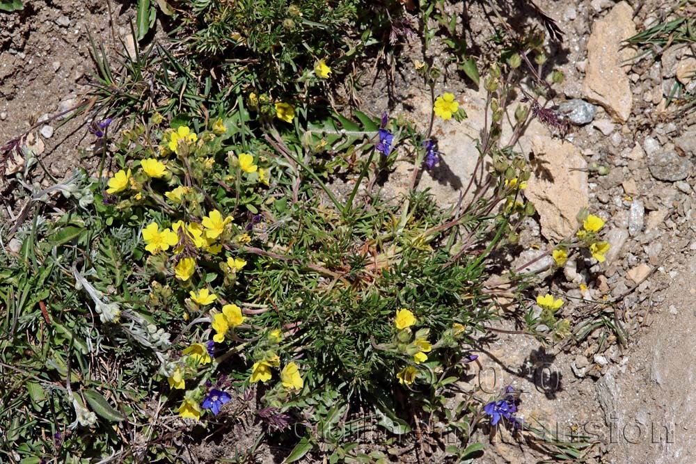
[[[525,197],[539,213],[541,234],[558,241],[575,230],[578,211],[589,202],[587,162],[570,143],[548,136],[534,136],[531,142],[535,161]]]

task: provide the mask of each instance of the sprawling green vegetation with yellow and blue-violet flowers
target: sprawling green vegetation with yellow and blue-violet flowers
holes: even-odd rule
[[[434,420],[444,428],[430,434],[457,436],[441,450],[457,462],[480,454],[476,429],[500,426],[580,456],[589,443],[525,424],[510,388],[452,405],[471,381],[474,335],[503,317],[494,273],[529,310],[521,333],[550,343],[573,334],[563,301],[539,295],[535,315],[533,275],[499,259],[535,214],[514,145],[530,118],[555,121],[536,100],[512,98],[521,56],[485,75],[476,178],[443,208],[418,179],[441,162],[434,119],[466,114],[456,95],[436,95],[438,67],[416,65],[431,91],[427,131],[386,112],[349,118],[308,97],[370,44],[388,10],[371,17],[381,7],[312,0],[171,7],[176,47],[192,61],[153,45],[116,72],[94,47],[94,98],[111,117],[92,133],[111,172],[76,170],[45,190],[25,182],[26,211],[7,231],[0,362],[13,376],[0,394],[17,411],[0,415],[8,461],[181,462],[245,422],[260,430],[236,450],[239,462],[269,438],[287,446],[287,462],[320,452],[331,463],[383,463],[395,437],[422,435],[421,422]],[[142,86],[145,70],[156,86]],[[503,141],[505,115],[513,135]],[[412,163],[412,181],[388,198],[377,180],[397,157]],[[606,253],[601,219],[578,219],[573,239],[547,253],[558,266],[577,249],[599,261]],[[361,442],[356,417],[386,437]]]

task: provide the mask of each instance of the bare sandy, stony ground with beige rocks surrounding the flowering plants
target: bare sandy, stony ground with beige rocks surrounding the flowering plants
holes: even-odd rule
[[[113,39],[125,35],[123,26],[132,15],[127,10],[110,15],[104,3],[93,1],[27,3],[33,6],[19,18],[0,14],[1,141],[74,102],[91,70],[86,31],[116,47]],[[674,79],[696,86],[688,73],[696,67],[695,49],[677,47],[657,60],[626,62],[635,51],[622,49],[621,41],[664,19],[660,1],[538,3],[565,33],[551,58],[566,77],[553,103],[568,113],[573,129],[560,138],[535,122],[519,143],[519,151],[544,170],[543,175],[537,170],[525,191],[539,214],[525,224],[521,253],[510,259],[522,264],[553,246],[571,233],[578,209],[590,207],[607,221],[606,262],[571,259],[544,283],[566,295],[568,314],[590,319],[595,306],[588,301],[614,303],[606,323],[619,323],[628,339],[619,343],[612,330],[598,326],[579,347],[548,349],[512,335],[482,340],[481,378],[491,389],[511,384],[522,390],[528,422],[591,435],[598,443],[590,462],[696,462],[691,446],[696,434],[690,431],[696,369],[690,349],[696,342],[696,120],[666,105]],[[466,26],[481,36],[491,27],[475,19]],[[418,40],[409,47],[414,56],[422,54]],[[436,63],[444,57],[436,57]],[[409,63],[395,79],[377,81],[363,104],[376,114],[390,109],[427,125],[429,93]],[[484,94],[456,77],[436,89],[444,91],[458,96],[469,118],[436,123],[443,163],[423,175],[420,186],[451,204],[475,164],[473,140],[482,127]],[[76,147],[88,148],[86,136],[75,121],[68,127],[50,122],[35,135],[57,177],[78,159]],[[54,150],[58,145],[61,149]],[[610,172],[599,175],[587,169],[592,166]],[[397,166],[389,188],[399,191],[409,175],[406,163]],[[492,371],[495,381],[489,380]],[[535,458],[535,451],[504,435],[493,446],[496,453],[482,462]]]

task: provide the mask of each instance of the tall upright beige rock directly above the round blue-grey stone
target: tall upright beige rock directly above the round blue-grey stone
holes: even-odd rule
[[[622,40],[635,35],[633,8],[625,1],[594,22],[587,42],[587,73],[583,93],[587,99],[601,104],[612,116],[622,122],[628,120],[633,106],[628,70],[622,63],[633,55],[622,49]]]

